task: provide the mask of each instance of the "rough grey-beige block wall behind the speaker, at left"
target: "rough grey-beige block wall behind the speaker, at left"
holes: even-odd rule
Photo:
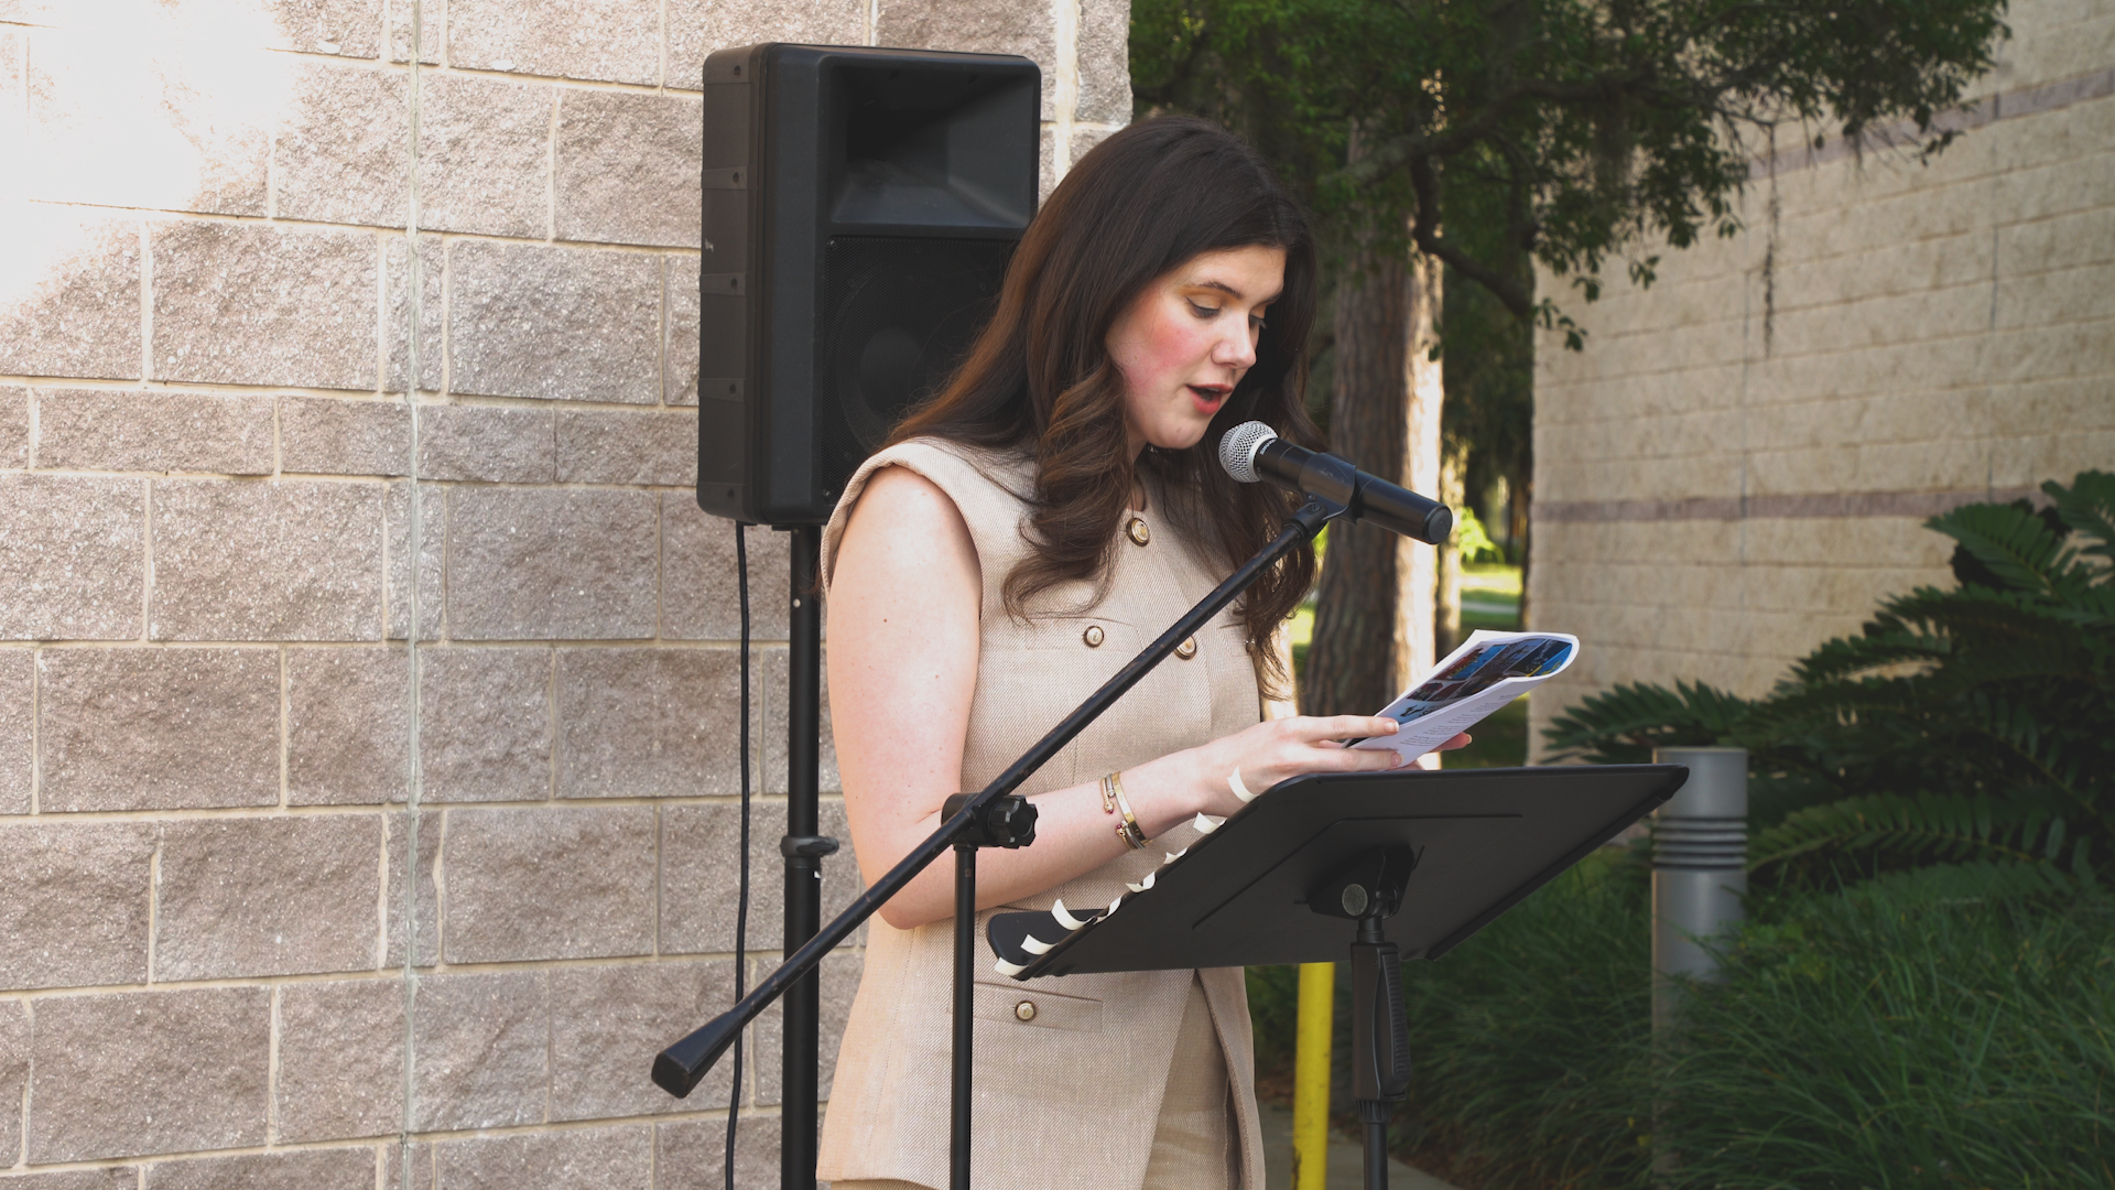
[[[1051,184],[1127,119],[1125,36],[1125,0],[0,0],[0,1184],[704,1188],[738,1095],[776,1186],[776,1016],[740,1088],[645,1080],[734,982],[700,64],[1028,53]],[[787,555],[751,544],[759,972]]]

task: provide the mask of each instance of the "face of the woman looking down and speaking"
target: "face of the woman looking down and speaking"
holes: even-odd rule
[[[1132,453],[1180,451],[1256,362],[1263,315],[1286,284],[1284,248],[1222,248],[1163,273],[1108,328],[1123,373],[1123,430]]]

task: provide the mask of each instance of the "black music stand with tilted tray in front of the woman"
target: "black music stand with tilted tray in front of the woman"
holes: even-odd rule
[[[1366,1188],[1411,1082],[1400,959],[1438,959],[1652,813],[1679,764],[1296,777],[1153,872],[1115,908],[1003,913],[1015,978],[1351,959],[1354,1099]],[[1396,940],[1381,923],[1400,913]],[[1068,921],[1070,919],[1070,921]]]

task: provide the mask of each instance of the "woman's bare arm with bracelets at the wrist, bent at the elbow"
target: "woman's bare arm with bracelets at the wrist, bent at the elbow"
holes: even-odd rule
[[[941,803],[958,792],[969,707],[977,692],[983,576],[954,502],[907,468],[882,468],[852,506],[829,587],[829,716],[844,775],[852,847],[867,883],[939,830]],[[1227,815],[1250,790],[1301,773],[1396,767],[1394,752],[1339,747],[1335,739],[1387,735],[1368,716],[1261,722],[1201,747],[1123,771],[1140,828],[1157,836],[1195,813]],[[1449,747],[1466,737],[1449,741]],[[992,849],[977,862],[977,904],[1007,904],[1091,872],[1125,853],[1102,811],[1098,781],[1036,794],[1036,841]],[[950,864],[933,864],[882,906],[909,930],[954,915]]]

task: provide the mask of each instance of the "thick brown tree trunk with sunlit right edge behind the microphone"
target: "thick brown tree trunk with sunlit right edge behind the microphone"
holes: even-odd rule
[[[1330,451],[1423,493],[1438,487],[1440,373],[1428,360],[1436,299],[1438,265],[1371,241],[1337,282]],[[1373,714],[1432,669],[1432,546],[1332,523],[1301,680],[1305,714]]]

